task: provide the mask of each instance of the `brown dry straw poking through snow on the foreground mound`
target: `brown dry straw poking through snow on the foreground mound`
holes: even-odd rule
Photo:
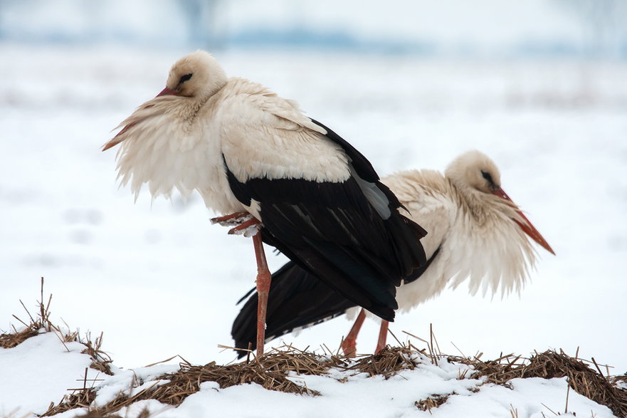
[[[49,308],[52,296],[44,305],[43,278],[41,283],[41,301],[38,302],[39,312],[36,318],[33,318],[24,306],[30,322],[26,323],[15,317],[23,323],[25,328],[19,331],[13,328],[9,333],[0,334],[0,348],[14,348],[24,340],[41,332],[51,332],[55,333],[64,345],[68,342],[78,342],[85,345],[83,353],[90,355],[93,360],[90,367],[108,375],[112,374],[110,370],[112,360],[101,349],[102,334],[94,341],[91,340],[90,335],[81,339],[78,333],[64,333],[58,326],[51,323]],[[412,335],[412,337],[415,336]],[[624,389],[627,375],[609,376],[608,372],[604,375],[594,358],[591,362],[586,362],[586,360],[578,358],[577,355],[570,357],[562,350],[559,352],[549,350],[536,353],[529,358],[510,354],[502,355],[496,360],[482,361],[480,360],[481,355],[475,357],[443,355],[438,348],[432,329],[428,341],[415,338],[426,343],[427,349],[418,350],[411,343],[403,344],[397,340],[399,347],[386,347],[377,355],[365,355],[357,359],[349,359],[332,353],[326,347],[322,348],[325,355],[320,355],[284,345],[281,348],[270,350],[261,357],[253,356],[252,359],[250,358],[251,352],[246,361],[230,365],[217,365],[216,362],[210,362],[198,366],[183,361],[180,363],[179,370],[157,377],[157,381],[149,387],[135,392],[135,388],[143,385],[144,382],[132,382],[129,390],[121,392],[111,402],[98,408],[93,407],[93,401],[97,395],[95,382],[88,380],[87,370],[85,370],[83,387],[74,389],[70,395],[65,395],[58,404],[51,404],[48,411],[41,416],[50,417],[70,409],[84,408],[88,412],[83,417],[117,418],[119,416],[115,413],[120,409],[146,399],[155,399],[164,404],[176,406],[181,404],[189,395],[198,392],[203,382],[216,382],[221,389],[234,385],[256,383],[267,390],[319,396],[319,392],[307,388],[305,380],[298,379],[297,375],[325,375],[333,369],[347,372],[340,381],[347,380],[350,375],[359,373],[367,373],[371,377],[379,375],[388,379],[401,371],[414,370],[423,362],[438,365],[438,362],[448,361],[470,366],[472,371],[463,372],[458,378],[477,379],[480,380],[479,385],[492,384],[510,387],[510,381],[517,377],[542,377],[544,379],[567,377],[569,390],[574,390],[594,402],[606,405],[618,417],[627,417],[627,389]],[[470,376],[467,376],[468,374]],[[475,390],[480,389],[475,388]],[[431,409],[444,404],[451,396],[455,396],[455,393],[433,394],[426,399],[417,400],[415,404],[417,408],[423,411],[431,411]],[[567,399],[566,402],[568,402]],[[568,410],[568,403],[565,410]],[[149,412],[144,410],[140,416],[142,418],[149,417]],[[515,416],[517,416],[517,411],[512,408],[512,417]]]

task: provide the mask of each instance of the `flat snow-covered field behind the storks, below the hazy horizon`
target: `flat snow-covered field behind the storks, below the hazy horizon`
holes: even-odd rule
[[[103,331],[118,367],[235,357],[218,345],[231,344],[235,303],[253,286],[250,240],[211,226],[198,197],[184,205],[144,193],[133,204],[117,189],[115,152],[100,152],[186,52],[0,45],[1,330],[16,323],[11,314],[26,316],[19,299],[34,307],[44,276],[53,318]],[[458,354],[451,342],[483,358],[579,347],[626,372],[626,63],[216,56],[230,75],[297,99],[380,174],[443,169],[482,150],[556,251],[539,251],[520,298],[448,291],[398,315],[399,339],[425,338],[433,323],[443,352]],[[284,261],[270,257],[270,266]],[[337,348],[349,325],[338,318],[283,340]],[[359,352],[372,352],[377,330],[364,326]]]

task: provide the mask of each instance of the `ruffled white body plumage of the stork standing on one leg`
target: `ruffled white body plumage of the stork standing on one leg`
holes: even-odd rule
[[[293,100],[243,78],[229,79],[195,107],[189,98],[159,96],[120,127],[118,177],[136,199],[143,184],[152,197],[169,198],[174,189],[188,197],[197,190],[218,213],[255,214],[233,196],[224,160],[241,182],[264,177],[343,182],[351,174],[342,148]]]

